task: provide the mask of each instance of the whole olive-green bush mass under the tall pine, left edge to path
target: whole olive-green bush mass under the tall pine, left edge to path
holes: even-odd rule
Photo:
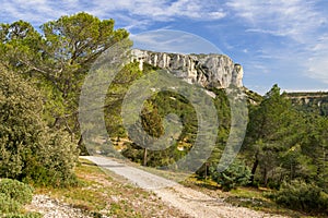
[[[42,119],[39,93],[0,65],[0,177],[59,186],[73,178],[77,145]]]

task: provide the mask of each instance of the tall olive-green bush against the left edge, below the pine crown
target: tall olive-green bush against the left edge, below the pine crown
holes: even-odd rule
[[[42,99],[13,73],[1,68],[0,74],[0,174],[17,178],[27,162],[26,150],[39,143]]]

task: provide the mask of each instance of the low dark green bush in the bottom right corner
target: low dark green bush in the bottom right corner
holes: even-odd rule
[[[281,189],[273,193],[274,202],[291,209],[328,214],[328,195],[315,184],[294,180],[284,182]]]

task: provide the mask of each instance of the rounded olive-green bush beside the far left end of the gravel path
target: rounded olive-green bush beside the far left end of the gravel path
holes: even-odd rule
[[[65,131],[48,131],[46,145],[30,154],[24,170],[24,181],[35,185],[66,186],[77,182],[72,168],[78,161],[77,147]]]

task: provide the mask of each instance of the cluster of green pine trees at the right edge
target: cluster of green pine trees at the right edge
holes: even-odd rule
[[[295,110],[273,86],[250,112],[243,155],[253,159],[251,182],[279,186],[304,179],[327,190],[327,125],[324,117]]]

